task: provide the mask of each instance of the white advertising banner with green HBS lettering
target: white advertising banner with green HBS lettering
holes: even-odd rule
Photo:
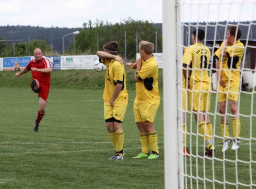
[[[61,69],[84,69],[85,56],[61,56]]]

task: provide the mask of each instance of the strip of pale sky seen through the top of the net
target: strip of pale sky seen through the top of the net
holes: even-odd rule
[[[256,20],[256,0],[183,0],[182,20],[185,22]]]

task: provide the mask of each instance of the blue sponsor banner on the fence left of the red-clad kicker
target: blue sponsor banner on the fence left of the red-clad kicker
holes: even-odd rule
[[[18,62],[20,69],[23,69],[27,66],[30,60],[31,60],[30,56],[3,58],[3,69],[12,70],[15,65],[15,62]]]

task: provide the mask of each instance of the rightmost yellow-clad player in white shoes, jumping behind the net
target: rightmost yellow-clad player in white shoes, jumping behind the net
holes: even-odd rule
[[[229,149],[232,139],[229,137],[229,120],[226,114],[226,101],[229,99],[230,111],[233,115],[233,145],[232,150],[240,146],[240,116],[238,114],[238,96],[240,89],[240,64],[244,54],[244,45],[240,42],[241,30],[236,26],[228,28],[226,40],[214,53],[216,58],[217,79],[219,79],[218,101],[221,116],[221,131],[224,137],[222,152]],[[220,69],[220,70],[218,70]],[[226,119],[226,121],[225,121]]]

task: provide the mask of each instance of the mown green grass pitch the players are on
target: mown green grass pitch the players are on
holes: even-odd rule
[[[132,90],[129,91],[123,124],[125,159],[110,162],[108,159],[114,151],[103,120],[102,93],[102,90],[51,90],[42,126],[35,133],[33,124],[38,111],[37,95],[30,89],[0,88],[0,188],[163,189],[163,98],[155,119],[160,159],[132,159],[140,152],[139,133],[133,118],[135,91]],[[211,103],[211,112],[214,112],[214,95]],[[241,98],[240,112],[251,114],[251,99],[246,95]],[[252,113],[256,114],[255,111]],[[191,120],[191,117],[188,119]],[[192,120],[192,131],[196,133],[193,117]],[[215,134],[221,135],[219,117],[214,121],[211,116],[211,121],[213,125],[216,123]],[[256,118],[253,117],[251,121],[251,137],[256,137]],[[241,123],[242,137],[250,137],[250,119],[242,118]],[[169,126],[172,127],[172,123]],[[229,132],[232,134],[231,126]],[[203,148],[201,137],[192,137],[191,141],[189,147],[195,157],[187,158],[184,165],[185,173],[194,178],[185,178],[187,188],[211,189],[214,186],[215,189],[222,189],[224,186],[218,181],[223,181],[224,175],[226,181],[236,183],[236,165],[239,182],[256,184],[256,162],[252,162],[256,161],[256,141],[252,140],[250,146],[249,141],[242,140],[238,150],[238,159],[251,161],[251,164],[225,161],[224,169],[223,163],[219,161],[223,160],[222,146],[219,145],[221,139],[215,140],[217,151],[214,161],[199,156]],[[236,153],[229,149],[225,158],[235,160]],[[213,180],[213,177],[214,183],[203,180]],[[236,188],[229,184],[225,186],[226,189]],[[239,185],[238,188],[248,187]]]

